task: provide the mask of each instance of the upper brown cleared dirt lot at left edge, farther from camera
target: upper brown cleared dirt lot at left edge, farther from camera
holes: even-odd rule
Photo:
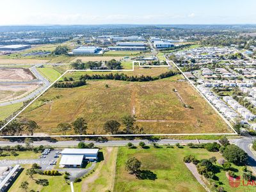
[[[0,81],[30,81],[35,76],[28,68],[0,68]]]

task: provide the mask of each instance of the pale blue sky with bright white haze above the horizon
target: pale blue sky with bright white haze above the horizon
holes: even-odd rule
[[[255,0],[1,0],[0,25],[256,24]]]

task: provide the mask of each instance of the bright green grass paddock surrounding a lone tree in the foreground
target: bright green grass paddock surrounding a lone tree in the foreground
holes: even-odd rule
[[[209,158],[220,154],[193,148],[118,148],[114,191],[205,191],[183,163],[183,157],[194,154],[196,158]],[[125,161],[136,157],[142,163],[141,170],[156,174],[156,180],[137,179],[125,170]]]

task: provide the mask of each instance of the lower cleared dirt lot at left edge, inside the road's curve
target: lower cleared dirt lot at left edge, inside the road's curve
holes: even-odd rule
[[[38,87],[39,84],[0,84],[0,102],[20,99]]]

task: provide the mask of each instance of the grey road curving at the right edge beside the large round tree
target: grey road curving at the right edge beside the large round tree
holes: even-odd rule
[[[248,145],[252,144],[252,141],[255,139],[256,138],[242,138],[237,140],[231,140],[231,142],[242,148],[248,154],[248,165],[252,166],[256,173],[256,157],[248,147]]]

